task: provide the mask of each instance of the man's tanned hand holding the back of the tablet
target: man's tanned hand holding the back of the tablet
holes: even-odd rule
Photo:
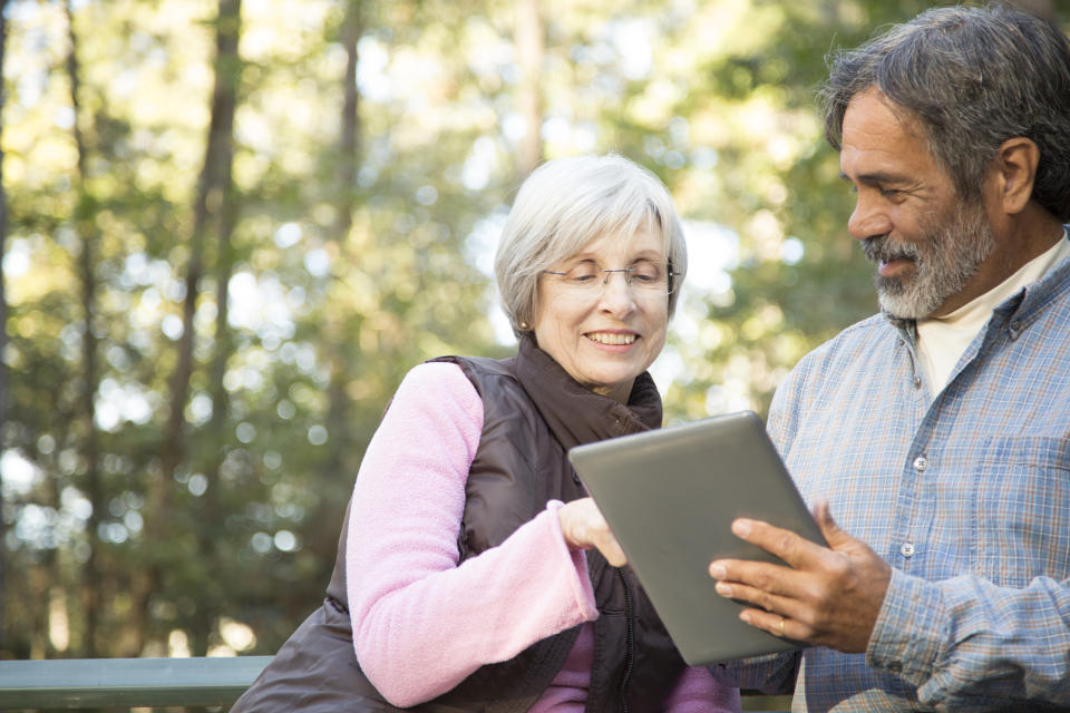
[[[892,568],[865,543],[839,529],[821,500],[814,508],[828,547],[758,520],[738,519],[732,531],[790,567],[718,559],[710,576],[721,596],[760,608],[740,618],[777,636],[843,652],[866,649]]]

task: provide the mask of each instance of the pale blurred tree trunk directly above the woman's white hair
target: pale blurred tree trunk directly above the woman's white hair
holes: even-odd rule
[[[516,89],[516,105],[524,116],[527,131],[516,153],[517,179],[523,180],[543,159],[543,99],[538,78],[543,62],[543,18],[539,0],[516,0],[516,60],[521,81]]]

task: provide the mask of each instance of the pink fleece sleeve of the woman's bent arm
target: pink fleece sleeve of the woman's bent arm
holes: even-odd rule
[[[457,566],[483,402],[456,364],[415,368],[361,462],[346,579],[353,647],[393,705],[449,691],[479,666],[597,617],[583,553],[558,502]]]

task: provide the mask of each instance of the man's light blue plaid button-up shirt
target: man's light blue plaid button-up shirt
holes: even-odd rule
[[[1070,707],[1070,260],[994,310],[935,399],[923,379],[913,322],[877,315],[777,390],[768,429],[804,498],[892,580],[865,654],[718,677],[795,683],[795,711]]]

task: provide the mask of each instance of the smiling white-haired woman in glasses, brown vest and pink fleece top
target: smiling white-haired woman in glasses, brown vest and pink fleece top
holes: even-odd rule
[[[495,267],[517,354],[408,373],[361,463],[327,602],[233,711],[739,710],[614,566],[566,459],[661,426],[646,368],[687,271],[672,199],[619,156],[548,162]]]

